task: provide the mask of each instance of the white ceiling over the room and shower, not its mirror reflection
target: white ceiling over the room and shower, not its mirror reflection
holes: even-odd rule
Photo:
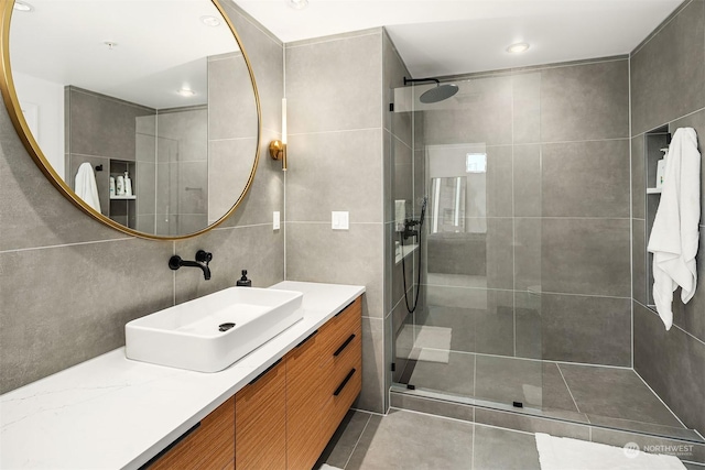
[[[282,42],[387,26],[413,77],[630,53],[682,0],[235,0]],[[511,55],[507,46],[531,44]],[[247,47],[247,44],[245,45]]]

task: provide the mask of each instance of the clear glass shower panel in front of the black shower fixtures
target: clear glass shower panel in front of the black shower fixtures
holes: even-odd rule
[[[393,379],[413,393],[541,408],[541,223],[531,217],[541,210],[540,184],[528,195],[522,179],[540,174],[540,146],[516,145],[513,136],[518,121],[539,119],[538,109],[513,112],[540,80],[497,76],[456,85],[455,97],[431,105],[416,99],[425,86],[397,94],[411,96],[397,112],[413,117],[413,151],[423,155],[414,159],[414,174],[424,175],[415,193],[429,203],[422,302],[394,316],[404,319],[392,326],[402,365]],[[528,196],[530,206],[517,204]],[[517,214],[516,206],[530,210]]]

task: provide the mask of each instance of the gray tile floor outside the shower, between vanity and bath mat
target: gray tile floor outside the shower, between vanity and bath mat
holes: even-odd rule
[[[317,468],[390,470],[539,470],[532,434],[403,409],[351,411]]]

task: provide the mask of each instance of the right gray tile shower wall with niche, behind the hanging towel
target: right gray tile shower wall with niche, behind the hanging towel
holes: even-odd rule
[[[650,221],[646,217],[644,133],[662,125],[671,133],[692,127],[701,154],[705,149],[705,1],[683,2],[632,52],[631,113],[634,369],[686,426],[704,433],[705,288],[701,282],[686,305],[680,289],[674,293],[674,326],[669,331],[646,306],[652,286],[647,285],[651,266],[646,258]],[[701,182],[705,182],[705,165]],[[705,190],[701,193],[699,281],[705,275]]]

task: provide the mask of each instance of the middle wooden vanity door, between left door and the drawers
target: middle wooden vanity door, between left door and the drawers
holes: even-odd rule
[[[286,469],[286,368],[279,360],[235,395],[238,470]]]

